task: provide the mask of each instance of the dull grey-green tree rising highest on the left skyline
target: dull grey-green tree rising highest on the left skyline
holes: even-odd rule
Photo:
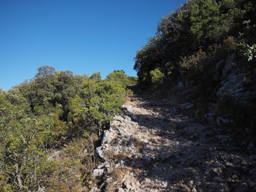
[[[15,87],[30,105],[35,115],[51,113],[56,106],[63,110],[61,119],[67,120],[68,103],[80,90],[87,76],[74,76],[72,72],[55,72],[50,66],[42,66],[30,82]]]

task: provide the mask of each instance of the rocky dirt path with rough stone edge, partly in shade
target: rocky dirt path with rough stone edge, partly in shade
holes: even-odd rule
[[[180,104],[132,95],[104,132],[91,191],[256,191],[254,149],[236,147]]]

